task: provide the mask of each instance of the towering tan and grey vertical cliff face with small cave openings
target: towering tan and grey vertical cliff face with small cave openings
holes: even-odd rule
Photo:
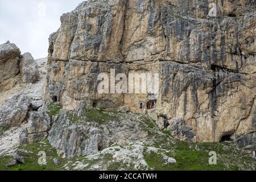
[[[255,20],[255,1],[83,2],[49,38],[44,101],[67,110],[127,106],[182,140],[245,143],[256,132]],[[154,110],[148,94],[99,94],[97,77],[111,69],[159,73]]]

